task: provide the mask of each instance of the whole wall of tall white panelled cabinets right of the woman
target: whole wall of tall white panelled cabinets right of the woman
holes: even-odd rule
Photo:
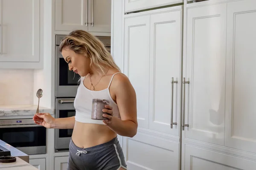
[[[177,6],[113,22],[124,24],[121,66],[137,94],[138,132],[123,137],[128,168],[255,169],[256,1],[187,6],[184,23]]]

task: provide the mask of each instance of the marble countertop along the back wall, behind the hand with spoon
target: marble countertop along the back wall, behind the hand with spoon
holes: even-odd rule
[[[34,115],[37,105],[0,105],[0,116]],[[53,114],[54,109],[39,106],[40,113]]]

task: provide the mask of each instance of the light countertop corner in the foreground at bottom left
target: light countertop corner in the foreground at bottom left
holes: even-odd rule
[[[16,162],[12,163],[0,163],[0,170],[38,170],[31,164],[23,161],[19,157],[16,157]]]

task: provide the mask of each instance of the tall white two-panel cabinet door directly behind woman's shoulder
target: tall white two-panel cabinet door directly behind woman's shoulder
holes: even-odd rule
[[[175,136],[179,136],[180,124],[170,128],[170,104],[173,102],[173,122],[177,123],[180,112],[181,16],[180,9],[125,18],[124,73],[137,92],[138,125]],[[171,76],[166,78],[166,74]]]

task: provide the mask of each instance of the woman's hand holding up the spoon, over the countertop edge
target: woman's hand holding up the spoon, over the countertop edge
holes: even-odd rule
[[[52,128],[55,118],[49,113],[36,113],[33,117],[34,122],[37,125],[44,126],[46,128]]]

